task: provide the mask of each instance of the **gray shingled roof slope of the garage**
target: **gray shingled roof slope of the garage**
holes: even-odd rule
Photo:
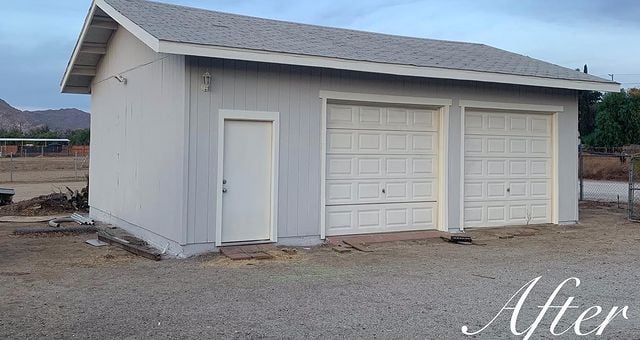
[[[221,13],[146,0],[105,0],[159,40],[421,67],[613,83],[483,44],[395,36]]]

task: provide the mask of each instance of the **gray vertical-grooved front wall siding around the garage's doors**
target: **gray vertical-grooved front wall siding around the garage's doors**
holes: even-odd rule
[[[202,74],[212,90],[202,92]],[[458,101],[562,105],[560,115],[561,222],[577,216],[577,99],[575,91],[477,82],[385,76],[211,58],[187,58],[189,163],[187,242],[213,242],[218,110],[280,112],[278,237],[320,234],[320,90],[453,99],[450,109],[450,228],[460,226],[460,138]]]

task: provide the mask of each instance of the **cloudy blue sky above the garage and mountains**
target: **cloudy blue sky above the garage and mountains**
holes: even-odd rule
[[[478,42],[640,86],[638,0],[164,0],[272,19]],[[90,0],[0,1],[0,98],[89,109],[59,83]]]

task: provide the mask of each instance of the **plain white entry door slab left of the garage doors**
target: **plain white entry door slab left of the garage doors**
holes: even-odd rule
[[[273,122],[224,120],[222,242],[268,241]]]

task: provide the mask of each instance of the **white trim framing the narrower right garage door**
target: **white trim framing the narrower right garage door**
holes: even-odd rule
[[[538,104],[525,104],[525,103],[502,103],[502,102],[485,102],[476,100],[460,100],[458,102],[460,106],[460,230],[464,230],[464,138],[465,138],[465,110],[467,108],[473,109],[496,109],[496,110],[509,110],[509,111],[522,111],[522,112],[534,112],[540,114],[551,115],[551,148],[553,150],[552,155],[552,192],[551,192],[551,222],[553,224],[559,223],[560,204],[558,200],[558,194],[560,191],[559,180],[560,172],[558,168],[558,154],[560,152],[559,141],[559,129],[558,129],[558,115],[564,111],[564,106],[556,105],[538,105]]]

